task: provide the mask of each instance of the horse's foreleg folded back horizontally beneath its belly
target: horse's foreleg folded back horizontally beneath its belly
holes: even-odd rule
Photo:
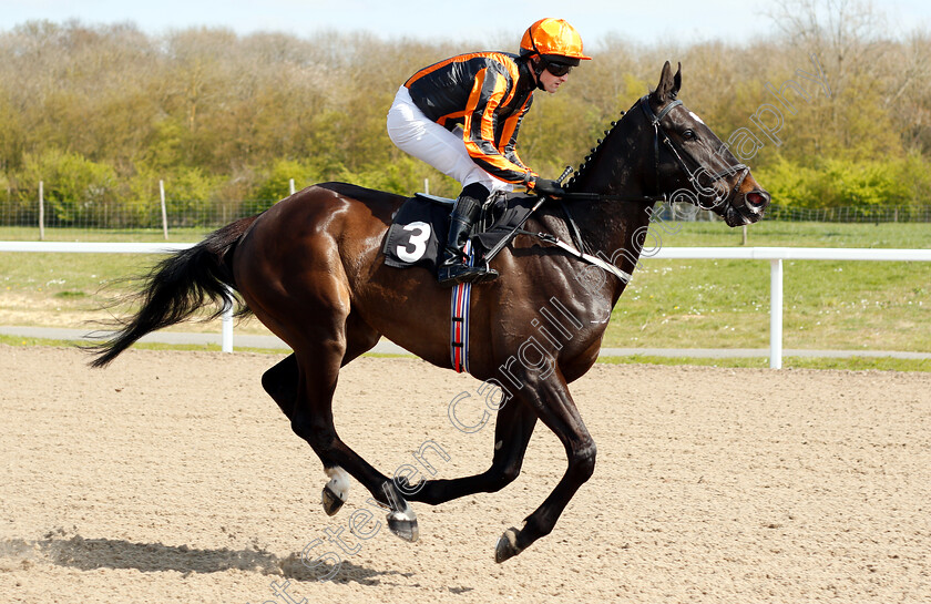
[[[528,442],[536,424],[536,412],[522,401],[507,402],[494,426],[494,457],[491,468],[481,474],[451,480],[428,480],[398,485],[411,501],[438,505],[474,493],[493,493],[513,482],[521,473]]]

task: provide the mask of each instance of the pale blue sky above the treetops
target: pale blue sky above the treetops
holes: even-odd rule
[[[519,39],[536,19],[560,17],[575,25],[591,50],[597,50],[608,35],[644,44],[656,39],[745,43],[774,32],[766,14],[773,4],[773,0],[472,0],[458,4],[442,0],[0,0],[0,31],[29,20],[78,19],[85,24],[132,21],[156,34],[201,25],[242,34],[309,35],[331,29],[365,30],[383,39],[489,43]],[[460,13],[450,6],[460,7]],[[876,1],[873,7],[886,12],[893,33],[931,27],[928,0]]]

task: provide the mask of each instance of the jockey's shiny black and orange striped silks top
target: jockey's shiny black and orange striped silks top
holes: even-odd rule
[[[460,54],[418,71],[405,85],[427,117],[448,130],[462,126],[466,149],[482,170],[513,184],[536,177],[515,150],[535,86],[525,61],[504,52]]]

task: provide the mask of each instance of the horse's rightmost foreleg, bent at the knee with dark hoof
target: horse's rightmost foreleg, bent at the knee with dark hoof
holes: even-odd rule
[[[595,442],[585,428],[565,380],[556,370],[535,387],[528,380],[522,396],[536,410],[543,423],[555,432],[565,447],[569,467],[550,496],[530,514],[522,529],[511,528],[498,540],[495,562],[518,555],[531,543],[552,532],[569,501],[595,470]]]

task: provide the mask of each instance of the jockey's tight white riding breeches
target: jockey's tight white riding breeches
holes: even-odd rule
[[[405,86],[398,90],[388,111],[388,136],[401,151],[456,178],[462,186],[481,183],[491,193],[513,190],[513,185],[499,181],[472,161],[461,127],[450,132],[423,115]]]

